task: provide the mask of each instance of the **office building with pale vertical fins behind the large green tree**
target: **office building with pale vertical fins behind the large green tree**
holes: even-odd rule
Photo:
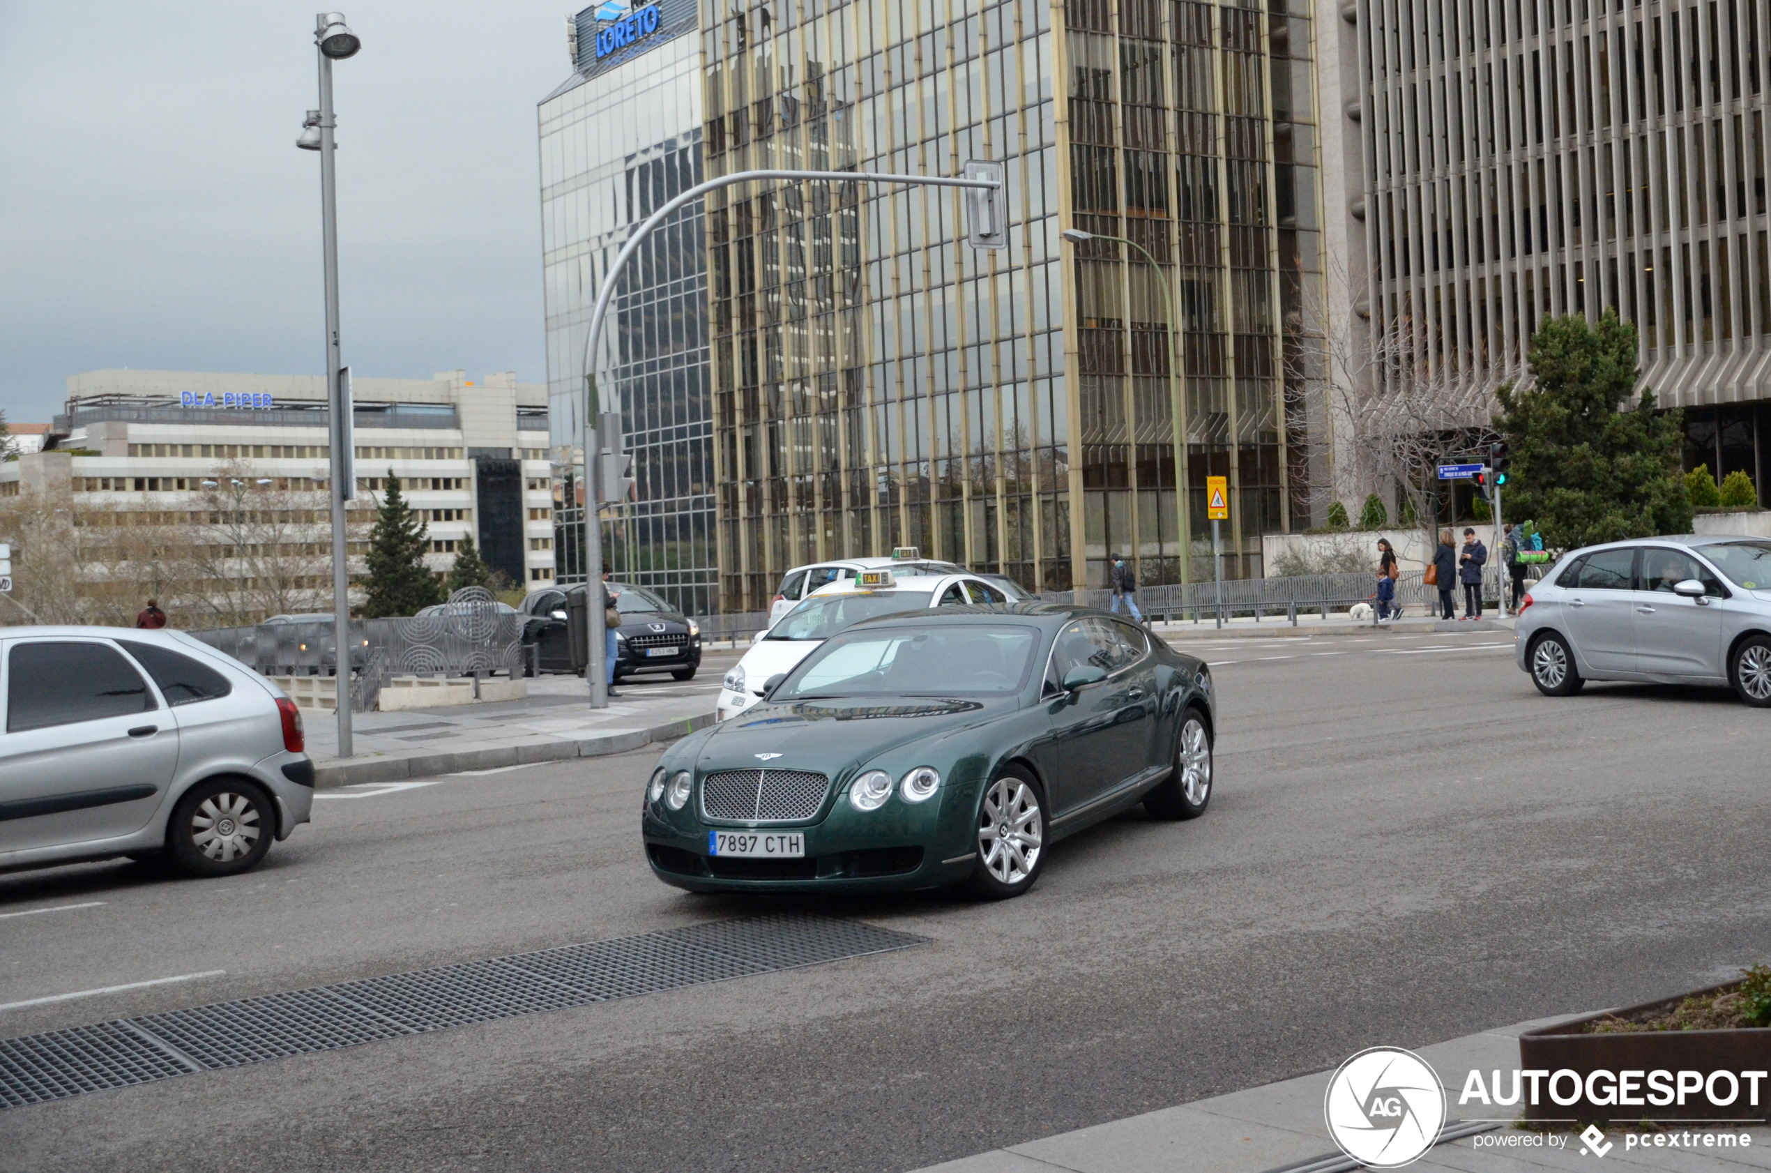
[[[1686,462],[1771,475],[1759,4],[1355,0],[1373,338],[1491,393],[1615,308]]]

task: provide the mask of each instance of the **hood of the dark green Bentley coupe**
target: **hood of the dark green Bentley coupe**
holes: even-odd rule
[[[696,767],[808,769],[832,778],[864,765],[910,741],[1017,709],[1017,696],[763,702],[714,726],[701,742]]]

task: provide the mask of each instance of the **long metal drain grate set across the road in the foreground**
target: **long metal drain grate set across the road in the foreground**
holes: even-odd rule
[[[0,1107],[926,941],[859,921],[776,913],[0,1038]]]

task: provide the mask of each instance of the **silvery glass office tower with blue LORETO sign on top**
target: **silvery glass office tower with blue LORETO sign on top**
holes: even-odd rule
[[[583,581],[584,335],[634,227],[701,179],[694,0],[622,0],[568,21],[572,76],[540,103],[547,393],[561,581]],[[701,206],[680,209],[622,273],[595,369],[620,409],[634,496],[604,509],[616,578],[691,615],[719,610]]]

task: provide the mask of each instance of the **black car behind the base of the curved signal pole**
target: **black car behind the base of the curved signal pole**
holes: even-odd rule
[[[622,613],[615,629],[615,679],[668,672],[677,680],[692,680],[701,666],[701,627],[645,586],[609,583],[609,594]],[[572,647],[568,622],[583,597],[584,588],[572,586],[537,590],[522,601],[522,641],[540,645],[542,672],[584,673],[584,650]]]

